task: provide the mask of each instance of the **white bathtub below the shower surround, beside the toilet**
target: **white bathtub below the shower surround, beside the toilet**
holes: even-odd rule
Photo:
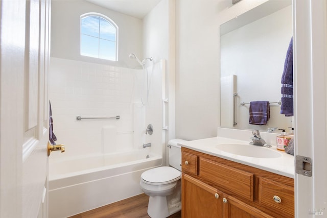
[[[141,174],[162,165],[148,149],[49,160],[49,217],[72,216],[142,193]]]

